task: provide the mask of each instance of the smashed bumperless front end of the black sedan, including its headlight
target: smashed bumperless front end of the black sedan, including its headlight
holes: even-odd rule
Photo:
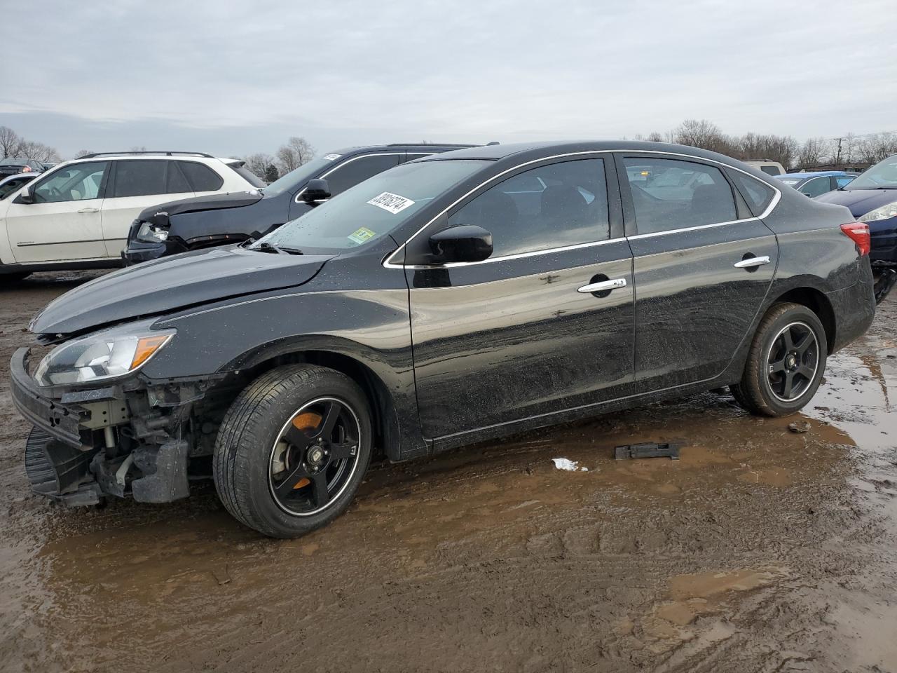
[[[34,426],[25,465],[36,494],[70,506],[111,495],[168,503],[187,497],[191,479],[208,476],[197,459],[211,456],[212,443],[198,441],[195,406],[215,379],[139,375],[171,337],[107,332],[74,339],[34,368],[28,348],[16,351],[13,403]]]

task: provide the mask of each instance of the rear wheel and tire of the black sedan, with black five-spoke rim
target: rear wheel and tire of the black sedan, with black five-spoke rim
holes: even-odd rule
[[[775,304],[760,321],[732,395],[752,414],[794,414],[819,388],[827,356],[825,329],[816,314],[801,304]]]

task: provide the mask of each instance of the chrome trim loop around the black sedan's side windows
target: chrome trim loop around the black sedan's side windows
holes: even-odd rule
[[[436,220],[438,220],[442,215],[448,213],[449,210],[451,210],[451,209],[454,208],[456,205],[458,205],[461,201],[463,201],[464,199],[466,199],[466,197],[469,197],[469,196],[470,196],[471,194],[473,194],[476,190],[478,190],[478,189],[480,189],[480,188],[483,188],[485,185],[488,185],[488,184],[489,184],[490,182],[492,182],[493,180],[500,179],[503,175],[505,175],[505,174],[507,174],[507,173],[509,173],[509,172],[512,172],[512,171],[514,171],[514,170],[518,170],[518,169],[523,168],[523,167],[525,167],[525,166],[529,166],[530,164],[533,164],[533,163],[546,162],[546,161],[550,161],[550,160],[552,160],[552,159],[563,159],[563,158],[565,158],[565,157],[570,157],[570,156],[584,156],[584,155],[588,155],[588,154],[613,154],[613,153],[621,153],[621,154],[625,154],[625,153],[658,154],[658,155],[660,155],[660,156],[685,157],[686,159],[691,159],[692,161],[697,161],[697,162],[710,162],[710,163],[715,163],[715,164],[717,164],[718,166],[722,166],[722,167],[724,167],[724,168],[728,168],[728,169],[731,169],[731,170],[737,170],[738,172],[744,173],[748,178],[755,179],[755,180],[757,180],[758,182],[762,182],[764,185],[768,185],[770,188],[772,188],[772,190],[775,192],[775,194],[772,195],[772,198],[770,199],[770,204],[766,206],[766,209],[765,209],[761,214],[757,215],[756,217],[746,217],[745,219],[741,219],[741,220],[732,220],[731,222],[720,222],[720,223],[712,223],[712,224],[700,224],[700,225],[698,225],[698,226],[694,226],[694,227],[682,227],[681,229],[670,229],[670,230],[667,230],[666,232],[641,233],[641,234],[636,234],[636,235],[634,235],[634,236],[623,236],[623,237],[616,238],[616,239],[597,240],[597,241],[590,242],[590,243],[579,243],[578,245],[573,245],[573,246],[563,246],[562,248],[549,248],[549,249],[542,249],[542,250],[533,250],[532,252],[521,252],[521,253],[518,253],[517,255],[504,255],[504,256],[502,256],[502,257],[497,257],[497,258],[486,258],[486,259],[482,259],[482,260],[480,260],[480,261],[478,261],[478,262],[450,262],[450,263],[448,263],[448,264],[417,264],[417,265],[405,265],[405,264],[397,264],[397,263],[395,263],[395,262],[392,261],[392,259],[393,259],[394,257],[396,257],[396,255],[397,255],[399,252],[402,251],[402,249],[405,249],[405,246],[408,245],[408,243],[410,243],[412,240],[414,240],[414,238],[416,238],[418,234],[420,234],[421,232],[423,232],[423,230],[425,230],[427,227],[429,227],[432,223],[436,222]],[[706,159],[706,158],[704,158],[704,157],[696,156],[696,155],[694,155],[694,154],[686,154],[686,153],[682,153],[682,152],[662,152],[662,151],[659,151],[659,150],[640,150],[640,149],[630,149],[630,150],[626,150],[626,149],[623,149],[623,150],[584,150],[584,151],[582,151],[582,152],[570,152],[570,153],[563,153],[563,154],[553,154],[552,156],[540,157],[539,159],[533,159],[533,160],[528,161],[528,162],[518,163],[516,166],[512,166],[511,168],[509,168],[509,169],[507,169],[507,170],[502,170],[501,173],[498,173],[497,175],[493,175],[492,178],[490,178],[490,179],[483,180],[483,182],[481,182],[480,184],[478,184],[475,188],[472,188],[472,189],[470,189],[469,191],[467,191],[466,194],[464,194],[464,195],[462,195],[462,196],[460,196],[460,197],[457,197],[457,199],[455,199],[451,204],[449,204],[448,206],[446,206],[445,208],[443,208],[443,209],[440,211],[440,213],[438,213],[438,214],[434,215],[433,217],[431,217],[431,219],[430,219],[426,224],[424,224],[420,229],[418,229],[416,232],[414,232],[414,233],[413,233],[407,240],[405,240],[404,243],[402,243],[402,245],[400,245],[398,248],[396,248],[395,250],[393,250],[393,251],[387,256],[387,258],[385,258],[385,259],[383,260],[382,264],[383,264],[383,267],[386,267],[386,268],[411,268],[411,269],[467,267],[467,266],[475,265],[475,264],[489,264],[489,263],[491,263],[491,262],[501,262],[501,261],[506,261],[506,260],[508,260],[508,259],[517,259],[517,258],[524,258],[524,257],[534,257],[534,256],[536,256],[536,255],[550,255],[550,254],[552,254],[553,252],[563,252],[563,251],[565,251],[565,250],[569,250],[569,249],[577,249],[577,248],[588,248],[588,247],[590,247],[590,246],[597,246],[597,245],[604,245],[605,243],[612,243],[612,242],[617,241],[617,240],[627,240],[627,239],[628,239],[628,240],[647,239],[647,238],[651,238],[651,237],[654,237],[654,236],[666,236],[666,235],[669,235],[669,234],[671,234],[671,233],[693,232],[693,231],[698,231],[698,230],[701,230],[701,229],[710,229],[710,227],[722,227],[722,226],[727,226],[728,224],[738,224],[738,223],[745,223],[745,222],[753,222],[753,221],[755,221],[755,220],[762,220],[764,217],[769,217],[769,215],[772,213],[772,211],[775,209],[775,207],[776,207],[777,205],[779,205],[779,200],[781,199],[781,196],[782,196],[782,193],[781,193],[781,190],[780,190],[778,187],[776,187],[775,185],[770,184],[770,182],[767,182],[767,181],[765,181],[765,180],[757,179],[756,176],[751,175],[751,173],[747,172],[746,170],[740,169],[740,168],[738,168],[737,166],[732,166],[732,165],[730,165],[730,164],[728,164],[728,163],[726,163],[726,162],[718,162],[716,159]]]

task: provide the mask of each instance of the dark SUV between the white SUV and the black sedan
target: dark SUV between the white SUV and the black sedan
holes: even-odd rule
[[[469,144],[384,144],[327,153],[292,170],[266,188],[237,194],[187,198],[153,206],[131,225],[122,253],[126,266],[179,252],[257,238],[295,220],[328,196],[400,163]],[[326,179],[329,195],[311,194],[309,180]]]

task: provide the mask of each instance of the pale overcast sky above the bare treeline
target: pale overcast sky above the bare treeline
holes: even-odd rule
[[[0,125],[66,157],[897,130],[895,0],[0,4]]]

